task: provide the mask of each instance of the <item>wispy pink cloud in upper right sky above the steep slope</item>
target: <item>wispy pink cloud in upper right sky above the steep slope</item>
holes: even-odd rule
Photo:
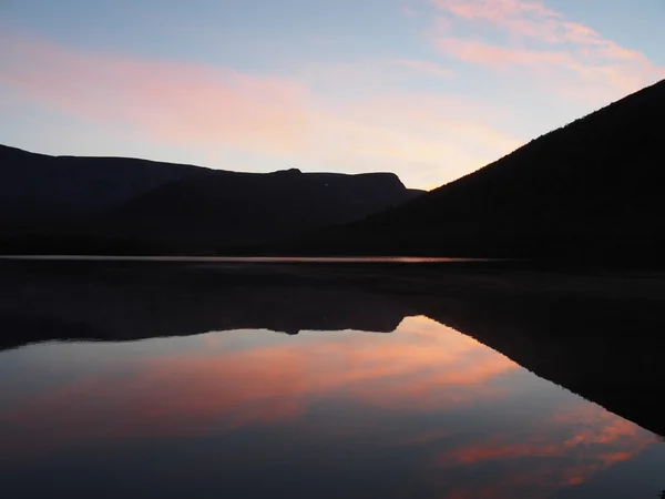
[[[592,28],[567,20],[540,1],[431,0],[453,27],[475,28],[483,38],[437,37],[444,53],[493,70],[546,75],[564,92],[582,84],[585,95],[618,98],[661,78],[665,69]],[[491,38],[488,38],[491,35]],[[491,40],[491,41],[489,41]]]

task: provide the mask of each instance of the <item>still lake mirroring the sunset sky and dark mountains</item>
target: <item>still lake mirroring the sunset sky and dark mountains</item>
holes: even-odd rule
[[[411,271],[76,265],[0,266],[0,481],[12,499],[665,488],[649,418],[663,385],[636,387],[614,366],[633,352],[626,334],[647,342],[665,324],[658,301],[593,294],[580,306],[494,272],[441,274],[446,286],[418,294]],[[531,370],[479,338],[505,340]],[[635,349],[642,365],[652,349]]]

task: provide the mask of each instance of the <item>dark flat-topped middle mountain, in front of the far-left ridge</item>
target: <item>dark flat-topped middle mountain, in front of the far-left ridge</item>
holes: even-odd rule
[[[349,223],[418,193],[389,173],[221,172],[163,185],[89,228],[183,251],[214,251]]]

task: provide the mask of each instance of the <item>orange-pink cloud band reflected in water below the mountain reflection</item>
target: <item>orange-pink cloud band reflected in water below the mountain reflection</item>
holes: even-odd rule
[[[263,336],[258,345],[247,344],[257,335]],[[66,349],[43,348],[54,350],[55,358]],[[104,346],[82,345],[78,350],[89,355],[94,348]],[[406,319],[388,337],[347,332],[283,342],[265,333],[227,332],[187,339],[184,348],[119,360],[125,375],[76,377],[6,417],[29,420],[30,432],[41,429],[40,440],[47,440],[50,434],[66,435],[66,421],[80,414],[72,428],[80,442],[94,438],[100,418],[105,420],[104,435],[116,437],[161,435],[170,428],[190,434],[213,422],[238,427],[297,419],[320,397],[375,408],[448,410],[500,397],[507,387],[493,380],[518,369],[474,339],[422,317]],[[76,359],[72,354],[62,361]],[[100,408],[104,410],[95,410]],[[59,421],[62,431],[53,431]]]

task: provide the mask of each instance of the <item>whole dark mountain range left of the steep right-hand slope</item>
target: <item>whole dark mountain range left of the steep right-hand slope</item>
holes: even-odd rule
[[[0,146],[3,253],[214,253],[346,224],[421,193],[392,173],[236,173]]]

